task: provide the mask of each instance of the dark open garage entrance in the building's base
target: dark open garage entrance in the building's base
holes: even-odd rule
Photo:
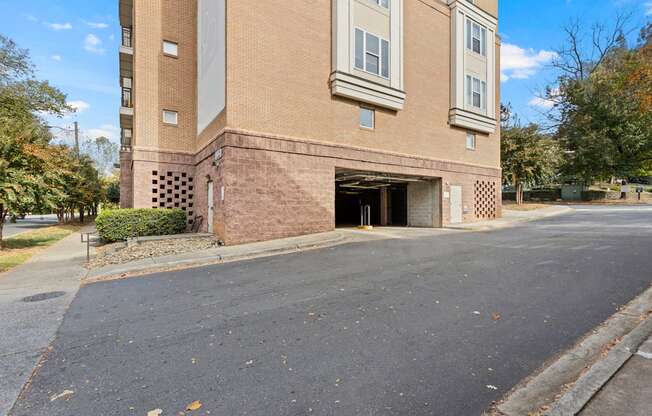
[[[439,184],[436,178],[337,169],[335,223],[440,227]]]

